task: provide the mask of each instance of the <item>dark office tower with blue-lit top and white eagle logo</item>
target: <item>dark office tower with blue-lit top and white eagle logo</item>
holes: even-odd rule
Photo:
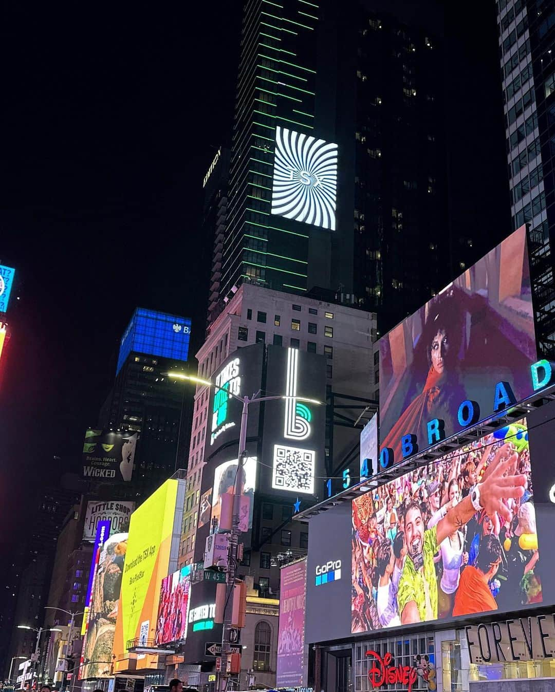
[[[186,467],[192,397],[165,375],[187,369],[190,332],[188,318],[137,308],[122,336],[116,382],[99,416],[100,428],[138,432],[133,477],[120,497],[145,499]]]

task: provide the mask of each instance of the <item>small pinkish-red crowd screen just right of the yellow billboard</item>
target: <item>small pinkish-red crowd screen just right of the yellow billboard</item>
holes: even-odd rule
[[[162,580],[154,644],[183,641],[187,635],[191,565]]]

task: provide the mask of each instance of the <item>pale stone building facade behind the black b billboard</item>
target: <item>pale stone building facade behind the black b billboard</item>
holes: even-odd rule
[[[304,295],[271,291],[244,283],[210,325],[205,343],[197,353],[199,377],[211,379],[221,363],[242,347],[256,343],[293,347],[321,354],[327,359],[327,392],[375,399],[378,388],[373,343],[376,315],[343,304],[323,302]],[[239,349],[239,350],[238,350]],[[187,387],[186,383],[183,386]],[[253,394],[253,392],[248,392]],[[201,481],[206,464],[206,437],[210,437],[212,412],[210,391],[197,385],[190,437],[187,493],[183,511],[180,565],[192,562],[201,500]],[[361,405],[361,402],[357,402]],[[363,408],[361,406],[361,408]],[[360,410],[343,409],[345,416],[358,417]],[[327,427],[327,467],[335,467],[352,448],[356,428]],[[333,445],[330,443],[333,435]],[[208,445],[210,447],[210,445]]]

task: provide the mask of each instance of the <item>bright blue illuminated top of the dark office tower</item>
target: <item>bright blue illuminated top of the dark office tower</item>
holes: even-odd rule
[[[186,361],[190,336],[189,318],[138,307],[122,336],[116,375],[131,351]]]

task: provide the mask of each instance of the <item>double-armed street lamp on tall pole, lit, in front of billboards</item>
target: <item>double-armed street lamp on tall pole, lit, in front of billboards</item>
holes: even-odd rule
[[[241,507],[241,495],[243,494],[243,466],[246,457],[246,430],[248,421],[248,406],[251,403],[262,403],[263,401],[277,401],[279,399],[294,399],[295,401],[307,401],[308,403],[314,403],[318,406],[322,405],[322,401],[318,399],[309,399],[307,397],[297,397],[289,394],[281,394],[273,397],[260,397],[260,392],[253,394],[253,397],[239,397],[238,394],[230,392],[228,389],[224,389],[214,382],[201,377],[195,377],[194,375],[186,375],[182,372],[168,372],[167,376],[175,380],[185,380],[188,382],[193,382],[205,387],[213,387],[215,390],[221,392],[226,392],[228,397],[233,397],[237,401],[241,401],[243,404],[243,410],[241,413],[241,428],[239,430],[239,455],[237,456],[237,474],[235,475],[235,482],[233,484],[233,520],[231,522],[230,540],[229,540],[229,557],[228,557],[228,581],[226,588],[226,605],[224,608],[224,627],[221,633],[221,668],[220,668],[220,684],[219,689],[224,691],[227,687],[227,671],[228,671],[228,657],[231,654],[231,618],[233,611],[233,599],[231,598],[231,593],[233,590],[233,585],[235,584],[235,576],[237,573],[237,545],[239,543],[239,536],[241,535],[241,530],[239,529],[239,511]]]

